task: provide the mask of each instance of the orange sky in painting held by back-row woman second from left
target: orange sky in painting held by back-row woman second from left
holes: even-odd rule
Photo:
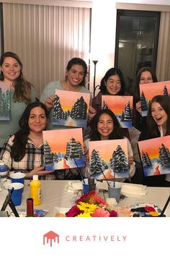
[[[83,96],[84,101],[87,104],[87,108],[89,109],[90,93],[55,90],[55,95],[58,95],[58,97],[60,98],[61,107],[63,108],[63,111],[71,111],[73,104],[76,102],[78,98],[81,98],[81,96]]]

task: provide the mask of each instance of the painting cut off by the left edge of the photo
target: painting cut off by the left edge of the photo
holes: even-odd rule
[[[10,88],[0,83],[0,121],[10,120]]]

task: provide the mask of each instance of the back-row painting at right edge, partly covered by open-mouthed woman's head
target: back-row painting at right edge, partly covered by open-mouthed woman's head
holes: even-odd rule
[[[170,81],[151,82],[149,84],[140,85],[142,116],[147,116],[148,103],[156,95],[170,96]]]

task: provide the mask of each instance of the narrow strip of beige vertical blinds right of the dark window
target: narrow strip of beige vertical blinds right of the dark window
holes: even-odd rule
[[[156,75],[158,81],[170,80],[170,12],[161,12]]]

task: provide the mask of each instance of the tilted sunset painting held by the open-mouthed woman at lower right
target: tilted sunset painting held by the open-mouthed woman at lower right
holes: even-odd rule
[[[170,174],[170,136],[138,142],[145,176]]]

